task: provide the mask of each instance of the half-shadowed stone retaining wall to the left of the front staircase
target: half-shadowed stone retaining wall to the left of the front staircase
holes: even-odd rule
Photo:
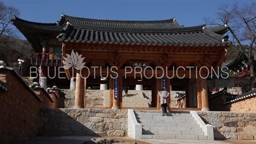
[[[41,109],[38,136],[127,136],[127,110]]]

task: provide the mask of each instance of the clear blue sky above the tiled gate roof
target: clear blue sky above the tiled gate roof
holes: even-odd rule
[[[180,25],[205,24],[216,17],[221,4],[237,0],[0,0],[20,10],[20,18],[33,22],[56,22],[61,13],[75,17],[109,20],[164,20],[176,18]],[[252,2],[256,0],[243,0]]]

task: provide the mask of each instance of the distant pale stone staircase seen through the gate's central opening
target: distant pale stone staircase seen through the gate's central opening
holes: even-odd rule
[[[123,93],[123,96],[125,93]],[[129,90],[129,97],[123,97],[122,106],[131,108],[149,108],[148,100],[143,96],[141,90]]]

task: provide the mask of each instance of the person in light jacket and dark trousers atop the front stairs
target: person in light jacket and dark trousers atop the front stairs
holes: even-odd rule
[[[162,88],[159,92],[159,97],[160,97],[160,103],[161,103],[161,108],[163,115],[165,116],[167,113],[167,104],[168,104],[168,98],[170,96],[170,93],[168,93],[164,88]]]

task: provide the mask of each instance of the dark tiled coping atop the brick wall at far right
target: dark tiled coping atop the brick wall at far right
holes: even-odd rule
[[[256,88],[250,92],[246,92],[241,95],[237,95],[236,97],[232,97],[231,99],[226,99],[224,104],[230,104],[239,100],[250,99],[252,97],[256,97]]]

